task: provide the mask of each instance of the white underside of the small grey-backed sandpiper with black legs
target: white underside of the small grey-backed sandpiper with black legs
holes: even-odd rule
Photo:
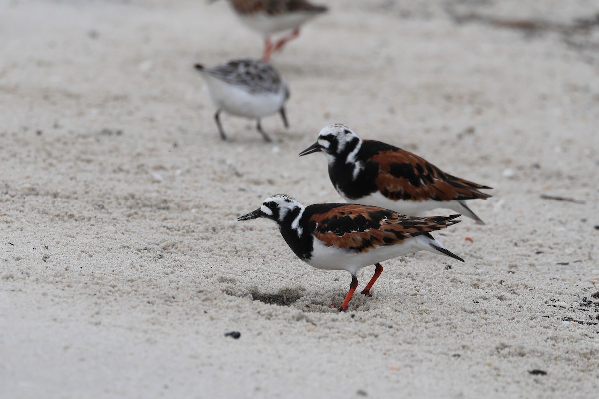
[[[276,93],[250,93],[208,74],[202,74],[202,77],[214,105],[232,115],[261,118],[279,111],[285,102],[285,92],[282,89]]]

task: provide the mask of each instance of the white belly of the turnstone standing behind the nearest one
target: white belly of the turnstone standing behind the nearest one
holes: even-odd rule
[[[347,202],[350,203],[358,202],[360,205],[379,206],[379,208],[390,209],[391,211],[399,212],[400,214],[408,216],[422,216],[425,212],[433,211],[434,209],[438,208],[451,209],[459,214],[462,214],[463,212],[462,206],[457,201],[394,201],[383,196],[383,194],[381,194],[379,191],[357,200],[347,198],[341,192],[340,194]]]

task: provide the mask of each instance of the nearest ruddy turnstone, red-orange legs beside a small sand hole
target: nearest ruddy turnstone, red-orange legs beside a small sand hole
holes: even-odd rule
[[[264,200],[260,208],[238,221],[267,218],[279,226],[289,248],[317,269],[347,270],[352,284],[339,310],[346,310],[358,287],[358,270],[374,264],[374,276],[362,294],[370,290],[383,272],[380,262],[418,251],[430,251],[464,261],[449,252],[430,232],[445,229],[460,215],[410,217],[376,206],[319,203],[302,206],[286,194]]]

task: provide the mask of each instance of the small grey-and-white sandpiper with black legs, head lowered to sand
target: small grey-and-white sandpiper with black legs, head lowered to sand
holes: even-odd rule
[[[284,106],[289,98],[289,89],[272,65],[261,60],[240,58],[213,68],[196,64],[195,69],[204,78],[208,96],[216,105],[214,120],[223,140],[226,136],[219,120],[220,111],[255,118],[256,129],[265,141],[271,139],[262,130],[260,118],[279,112],[283,126],[289,126]]]

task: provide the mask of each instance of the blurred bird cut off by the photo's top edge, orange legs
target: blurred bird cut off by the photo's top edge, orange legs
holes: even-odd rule
[[[305,0],[229,0],[229,4],[244,25],[264,36],[262,61],[268,61],[274,51],[297,38],[300,26],[328,10]],[[270,36],[283,31],[292,33],[273,44]]]

